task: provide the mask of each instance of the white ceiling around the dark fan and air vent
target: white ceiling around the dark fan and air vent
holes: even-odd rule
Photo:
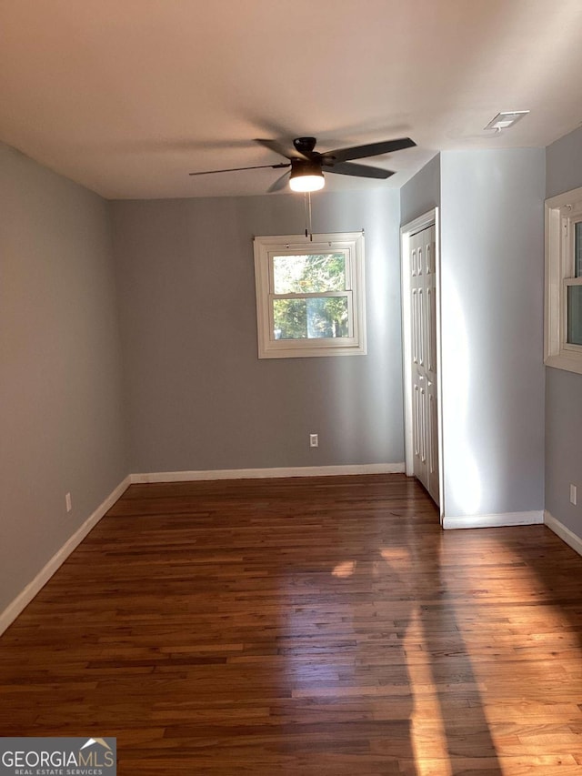
[[[280,170],[188,176],[282,161],[255,137],[411,136],[386,181],[326,175],[401,186],[575,129],[580,74],[582,0],[0,0],[0,140],[109,198],[263,194]]]

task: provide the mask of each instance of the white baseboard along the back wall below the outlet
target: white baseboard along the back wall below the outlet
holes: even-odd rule
[[[399,463],[369,463],[348,466],[296,466],[274,469],[208,469],[206,471],[159,471],[132,474],[134,483],[190,482],[198,479],[263,479],[272,477],[333,477],[342,474],[401,474],[404,461]]]

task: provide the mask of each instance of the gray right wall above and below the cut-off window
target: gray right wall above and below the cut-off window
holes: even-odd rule
[[[582,129],[547,147],[547,197],[582,186]],[[582,538],[582,375],[546,369],[546,509]],[[578,504],[569,500],[577,485]]]

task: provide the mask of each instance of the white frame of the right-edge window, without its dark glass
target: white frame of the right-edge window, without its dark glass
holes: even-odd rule
[[[575,276],[574,225],[582,221],[582,188],[546,200],[544,363],[582,374],[582,346],[567,342],[567,287]]]

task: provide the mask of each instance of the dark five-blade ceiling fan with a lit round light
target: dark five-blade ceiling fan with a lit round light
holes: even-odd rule
[[[385,179],[394,175],[391,170],[369,165],[355,165],[353,159],[363,159],[366,156],[379,156],[389,154],[392,151],[401,151],[403,148],[416,146],[410,137],[398,137],[396,140],[384,140],[379,143],[368,143],[366,146],[352,146],[351,148],[337,148],[335,151],[316,151],[315,137],[296,137],[293,146],[286,147],[277,140],[263,140],[257,138],[256,143],[275,151],[279,156],[285,156],[286,162],[277,165],[253,165],[249,167],[230,167],[225,170],[205,170],[203,172],[190,173],[191,176],[212,175],[214,173],[231,173],[238,170],[257,170],[266,167],[271,169],[291,169],[277,178],[268,191],[278,191],[289,186],[293,191],[317,191],[325,186],[324,172],[336,173],[343,176],[371,177]]]

